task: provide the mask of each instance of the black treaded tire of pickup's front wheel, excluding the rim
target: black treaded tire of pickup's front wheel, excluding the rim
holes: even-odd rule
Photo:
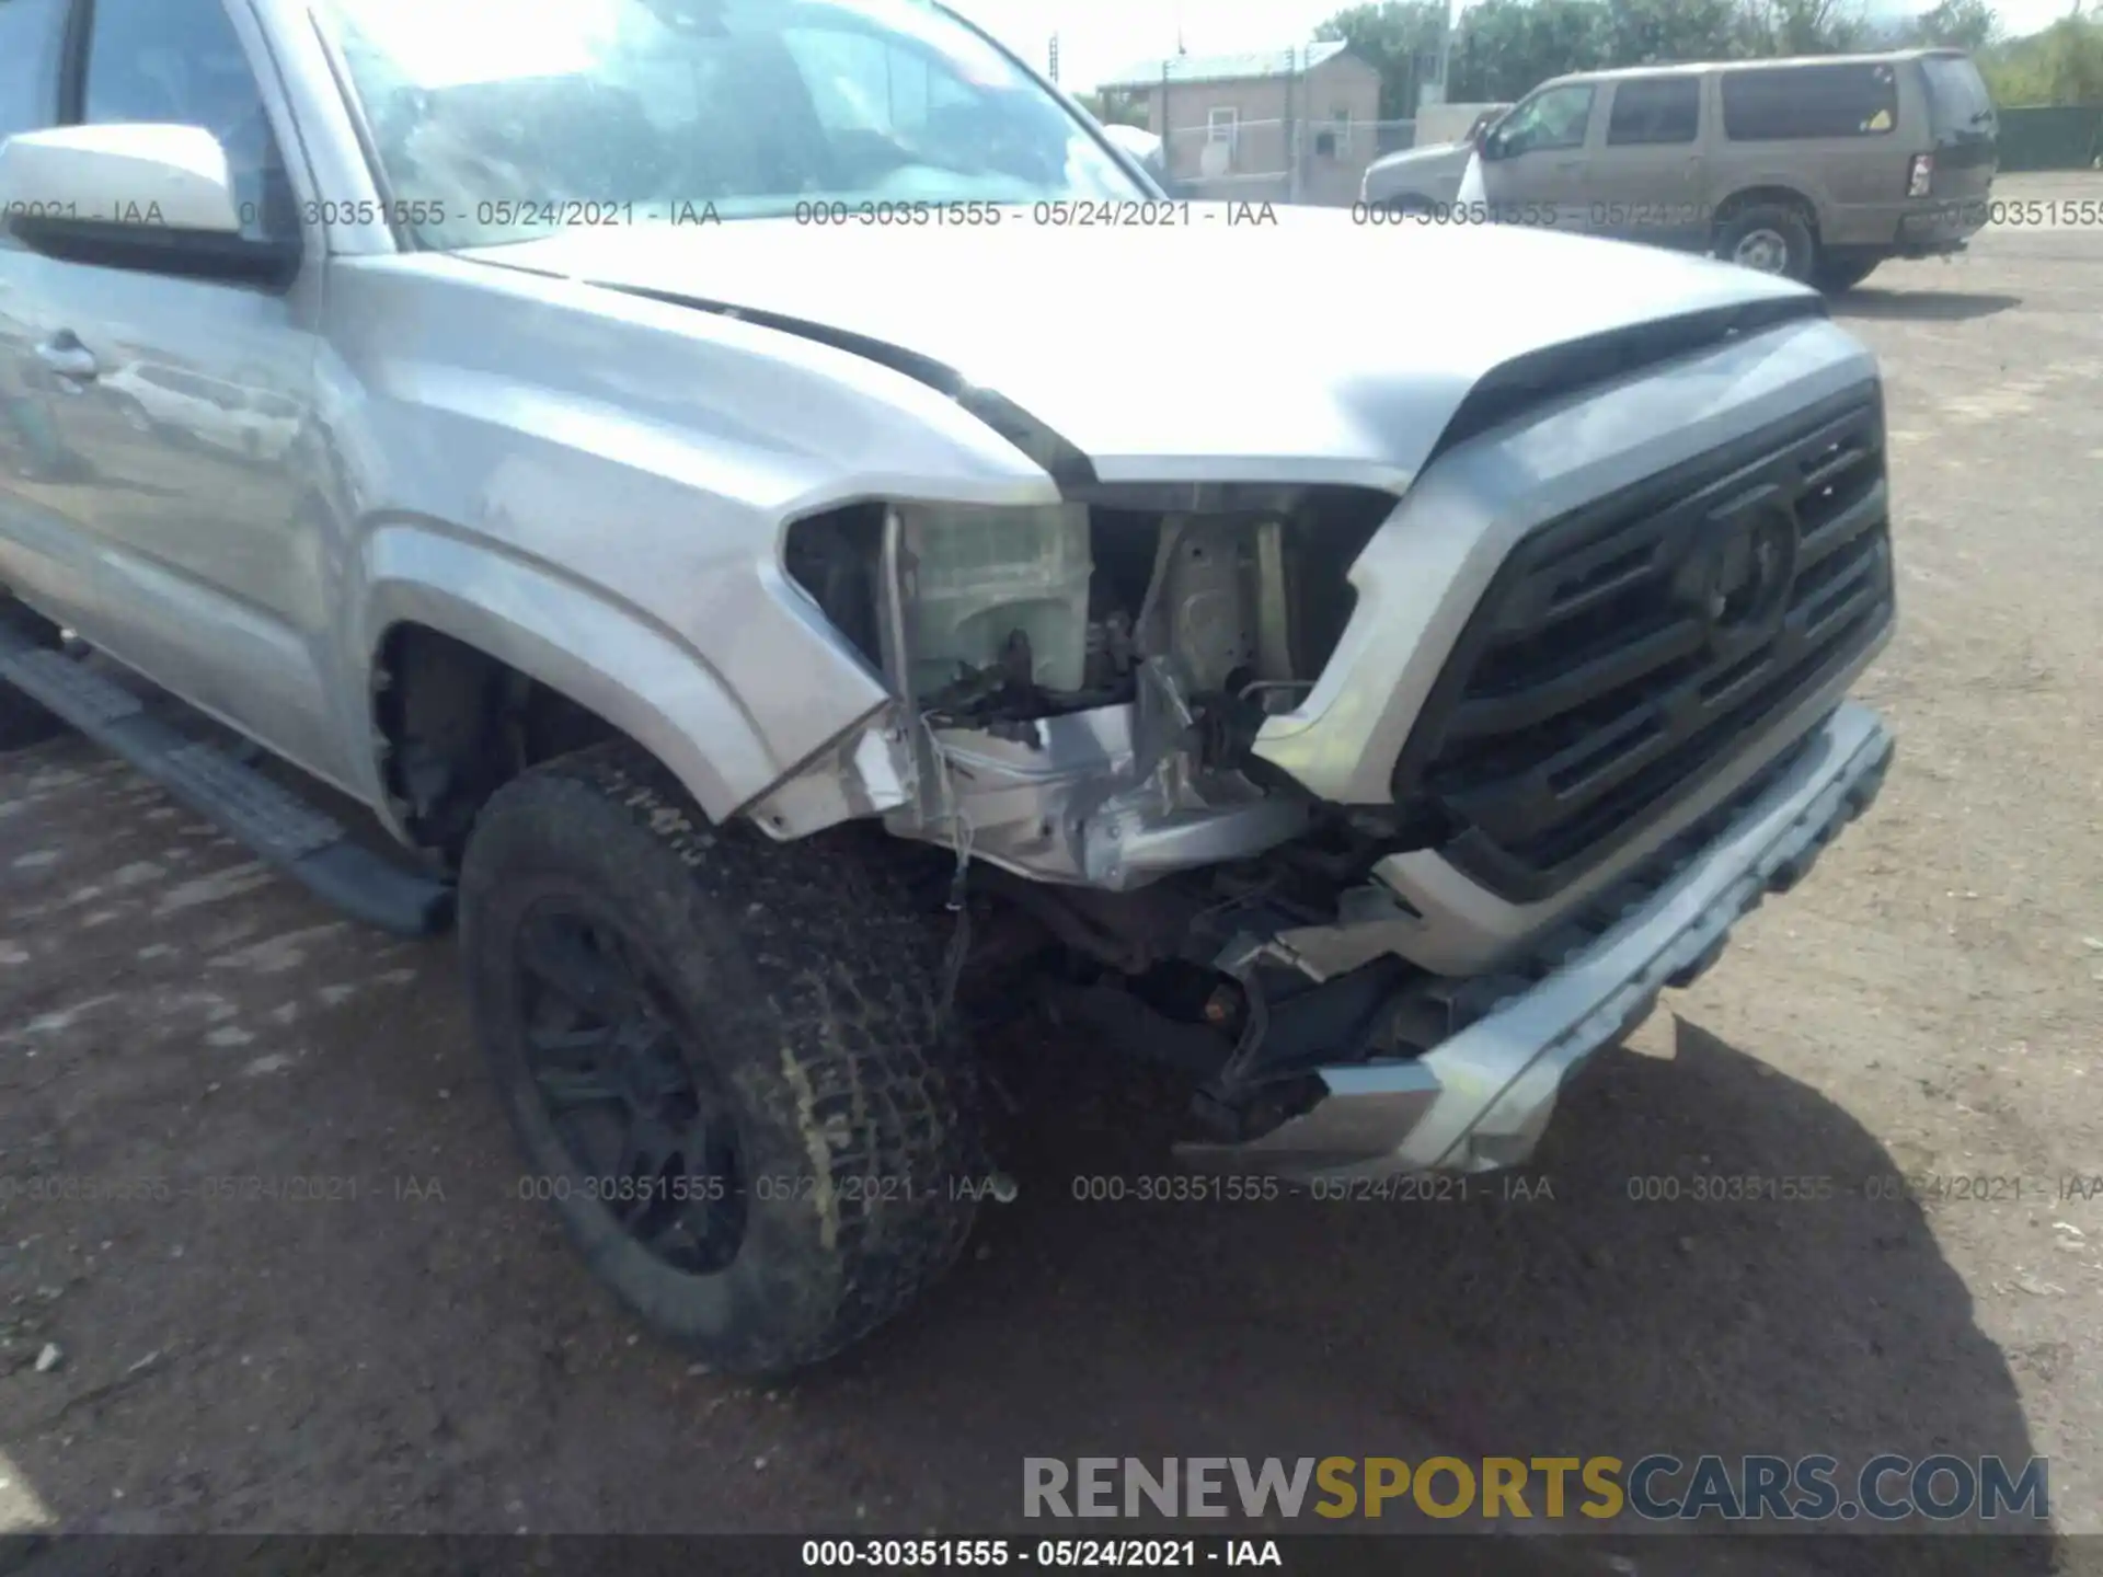
[[[587,1196],[528,1066],[522,921],[578,900],[616,917],[696,1026],[677,1037],[686,1066],[734,1117],[742,1236],[713,1274],[665,1264]],[[534,1192],[555,1194],[599,1281],[707,1363],[816,1363],[963,1247],[984,1171],[976,1079],[938,1026],[940,934],[883,860],[824,835],[711,826],[646,753],[595,746],[484,807],[461,871],[461,955],[526,1171],[555,1180]]]

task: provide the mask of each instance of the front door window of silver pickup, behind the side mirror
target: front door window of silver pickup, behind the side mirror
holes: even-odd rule
[[[242,233],[294,233],[278,137],[225,2],[95,0],[90,15],[82,122],[204,126],[227,149]]]

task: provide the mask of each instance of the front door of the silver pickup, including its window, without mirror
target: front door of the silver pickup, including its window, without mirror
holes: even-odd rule
[[[4,2],[4,0],[0,0]],[[282,97],[254,19],[227,0],[95,0],[61,65],[59,124],[183,124],[227,151],[242,235],[301,233]],[[265,63],[259,74],[257,61]],[[273,86],[273,84],[271,84]],[[32,572],[93,646],[322,776],[339,776],[318,654],[328,557],[297,439],[307,429],[322,254],[288,286],[185,271],[160,254],[6,252],[11,311],[57,437]]]

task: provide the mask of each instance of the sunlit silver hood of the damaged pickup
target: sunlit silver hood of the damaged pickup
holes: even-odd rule
[[[1340,208],[1173,212],[1188,221],[614,225],[465,257],[841,345],[1020,416],[1100,482],[1401,492],[1464,404],[1478,429],[1823,313],[1802,286],[1626,242]]]

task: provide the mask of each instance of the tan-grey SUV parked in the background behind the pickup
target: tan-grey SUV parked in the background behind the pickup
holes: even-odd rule
[[[1844,290],[1985,225],[1996,137],[1947,48],[1586,71],[1466,143],[1377,160],[1361,219],[1544,225]]]

